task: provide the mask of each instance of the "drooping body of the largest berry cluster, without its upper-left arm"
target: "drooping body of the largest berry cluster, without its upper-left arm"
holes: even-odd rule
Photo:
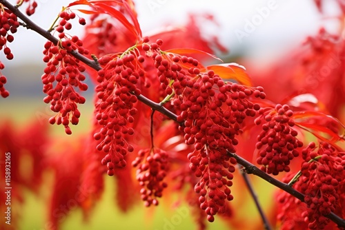
[[[226,210],[225,201],[233,199],[228,187],[232,185],[236,160],[228,156],[228,151],[235,153],[238,143],[235,136],[241,132],[244,119],[255,116],[259,109],[259,105],[246,98],[252,94],[264,97],[264,94],[261,88],[224,83],[212,71],[199,76],[189,88],[190,94],[186,91],[173,103],[180,103],[177,121],[184,121],[180,130],[184,132],[186,144],[195,146],[195,151],[188,155],[190,169],[201,177],[195,191],[200,195],[201,209],[212,222],[218,211]]]

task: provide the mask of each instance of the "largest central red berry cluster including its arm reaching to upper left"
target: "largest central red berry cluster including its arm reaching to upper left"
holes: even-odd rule
[[[265,98],[262,87],[246,87],[224,82],[213,71],[201,72],[196,59],[159,50],[163,41],[143,43],[147,56],[155,61],[160,88],[170,95],[170,107],[185,142],[194,145],[188,155],[190,169],[201,180],[195,185],[201,209],[212,222],[217,212],[226,211],[226,200],[233,200],[230,187],[236,163],[228,156],[235,152],[236,135],[246,116],[255,116],[259,105],[248,101],[251,96]]]

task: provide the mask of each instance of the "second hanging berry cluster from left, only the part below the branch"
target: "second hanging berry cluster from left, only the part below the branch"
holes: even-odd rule
[[[43,101],[50,103],[50,109],[58,113],[52,116],[49,122],[62,124],[66,134],[72,134],[69,124],[79,123],[80,112],[77,103],[85,103],[85,98],[75,91],[75,87],[81,91],[88,89],[88,85],[82,83],[86,77],[81,74],[86,68],[66,50],[63,44],[55,45],[47,41],[44,48],[43,61],[47,63],[47,67],[41,79],[43,92],[48,96]]]

